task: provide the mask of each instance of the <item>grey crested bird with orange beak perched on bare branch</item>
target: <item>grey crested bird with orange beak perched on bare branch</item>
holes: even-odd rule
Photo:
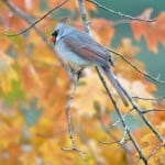
[[[54,44],[56,54],[68,64],[74,64],[80,68],[90,66],[101,68],[120,96],[123,105],[129,106],[127,97],[111,70],[114,65],[110,53],[88,33],[79,31],[68,25],[66,20],[62,20],[53,29],[51,42]]]

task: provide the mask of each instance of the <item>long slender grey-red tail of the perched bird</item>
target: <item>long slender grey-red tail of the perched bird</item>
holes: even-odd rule
[[[105,72],[105,74],[107,75],[107,77],[109,78],[109,80],[111,81],[111,84],[113,85],[116,91],[118,92],[118,95],[122,99],[122,102],[124,103],[124,106],[128,107],[129,106],[128,100],[127,100],[122,89],[119,87],[113,73],[107,67],[102,67],[102,69]]]

